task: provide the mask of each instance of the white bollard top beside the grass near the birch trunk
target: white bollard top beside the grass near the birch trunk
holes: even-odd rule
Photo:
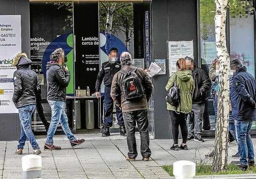
[[[174,162],[172,173],[175,179],[193,179],[196,174],[196,164],[188,160]]]

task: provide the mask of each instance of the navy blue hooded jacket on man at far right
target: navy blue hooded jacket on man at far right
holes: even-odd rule
[[[232,118],[235,121],[256,121],[256,80],[246,72],[246,66],[237,69],[231,91]]]

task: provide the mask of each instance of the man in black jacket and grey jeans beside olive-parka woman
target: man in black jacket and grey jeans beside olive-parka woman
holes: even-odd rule
[[[192,111],[189,113],[187,120],[187,141],[194,138],[194,141],[204,142],[204,139],[201,137],[202,121],[204,114],[204,102],[207,98],[208,90],[210,89],[210,79],[204,70],[194,66],[192,58],[186,56],[185,59],[188,69],[192,71],[192,77],[195,82],[195,90],[192,97]]]

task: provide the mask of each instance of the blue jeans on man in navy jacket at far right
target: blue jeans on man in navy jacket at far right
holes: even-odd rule
[[[235,121],[238,152],[242,165],[248,165],[248,160],[254,161],[253,144],[250,134],[251,126],[252,122]]]

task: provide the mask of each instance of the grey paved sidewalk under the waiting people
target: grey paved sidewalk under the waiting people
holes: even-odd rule
[[[71,148],[65,135],[54,136],[54,144],[62,150],[44,151],[46,136],[36,136],[42,149],[42,178],[43,179],[174,179],[169,176],[162,165],[171,165],[178,160],[189,160],[199,164],[210,163],[204,155],[213,149],[214,139],[205,139],[204,143],[188,142],[188,150],[172,151],[171,139],[153,139],[151,136],[150,161],[142,161],[140,155],[140,140],[136,133],[139,155],[135,162],[125,160],[127,143],[125,137],[119,133],[111,133],[109,137],[101,134],[76,134],[77,138],[84,138],[85,143],[77,148]],[[181,140],[179,141],[181,143]],[[256,143],[256,139],[253,139]],[[32,148],[26,143],[23,155],[15,154],[17,141],[0,142],[0,179],[21,179],[21,157],[32,154]],[[229,147],[228,162],[231,155],[237,152],[237,146]],[[234,160],[234,159],[233,159]],[[236,159],[237,160],[237,159]],[[194,179],[256,179],[256,174],[200,176]]]

